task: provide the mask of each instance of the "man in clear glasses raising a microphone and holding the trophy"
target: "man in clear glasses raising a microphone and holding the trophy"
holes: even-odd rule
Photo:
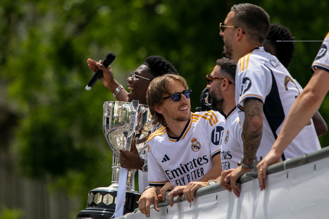
[[[147,87],[155,77],[165,73],[178,75],[176,68],[169,61],[161,56],[150,56],[134,72],[130,73],[127,78],[128,89],[131,90],[130,93],[128,93],[123,89],[123,86],[115,80],[111,65],[106,68],[102,64],[103,61],[97,62],[92,59],[88,59],[87,63],[89,68],[94,72],[98,69],[103,70],[100,81],[114,94],[114,97],[118,101],[131,102],[132,100],[138,100],[140,104],[145,105],[147,104]],[[131,146],[130,151],[121,149],[120,165],[126,169],[139,170],[139,191],[143,191],[148,185],[146,152],[144,151],[142,156],[139,157],[138,151],[134,145]]]

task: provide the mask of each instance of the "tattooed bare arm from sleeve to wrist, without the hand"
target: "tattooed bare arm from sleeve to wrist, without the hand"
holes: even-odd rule
[[[242,127],[243,154],[246,164],[253,163],[263,133],[263,103],[255,99],[244,101],[244,122]],[[255,127],[254,121],[262,121]]]

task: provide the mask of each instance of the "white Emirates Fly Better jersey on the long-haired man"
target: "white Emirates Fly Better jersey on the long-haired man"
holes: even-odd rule
[[[148,138],[149,185],[187,185],[199,181],[220,154],[225,119],[215,111],[191,113],[180,137],[171,137],[165,127]]]

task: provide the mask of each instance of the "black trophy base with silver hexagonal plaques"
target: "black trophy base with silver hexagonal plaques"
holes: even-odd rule
[[[89,192],[87,208],[79,211],[76,219],[110,219],[115,211],[116,186],[100,187]],[[115,190],[114,190],[115,189]],[[138,200],[141,193],[132,189],[126,189],[123,214],[133,212],[138,208]]]

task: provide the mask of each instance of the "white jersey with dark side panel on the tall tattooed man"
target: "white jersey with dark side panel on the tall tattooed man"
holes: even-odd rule
[[[254,49],[239,59],[236,72],[235,99],[241,126],[244,122],[243,101],[252,98],[263,106],[263,135],[257,156],[265,156],[282,129],[285,117],[301,92],[288,70],[264,47]],[[311,120],[312,121],[312,120]],[[321,149],[313,123],[305,126],[286,148],[282,159]]]

